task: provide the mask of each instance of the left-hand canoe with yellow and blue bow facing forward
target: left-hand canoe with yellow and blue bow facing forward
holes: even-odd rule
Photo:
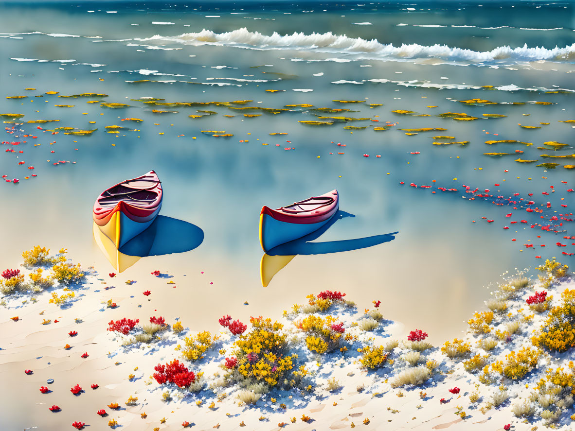
[[[94,222],[120,248],[152,224],[162,198],[162,183],[150,171],[102,192],[94,203]]]

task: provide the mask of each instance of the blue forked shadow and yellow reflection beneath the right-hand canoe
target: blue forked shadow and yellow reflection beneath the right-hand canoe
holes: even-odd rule
[[[354,214],[338,210],[338,212],[320,229],[304,237],[289,243],[280,244],[277,247],[264,253],[260,261],[260,276],[262,286],[267,287],[271,279],[283,267],[285,267],[297,255],[325,255],[327,253],[339,253],[345,251],[358,250],[362,248],[373,247],[374,245],[389,243],[395,239],[395,234],[399,232],[386,233],[382,235],[373,235],[363,238],[354,238],[352,240],[326,241],[324,243],[312,243],[311,241],[319,238],[328,230],[336,221],[344,217],[355,217]]]

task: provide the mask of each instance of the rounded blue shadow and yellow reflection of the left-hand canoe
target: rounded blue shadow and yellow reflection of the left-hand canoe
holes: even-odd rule
[[[204,241],[204,231],[177,218],[158,216],[150,227],[117,249],[94,223],[94,239],[112,266],[124,271],[141,257],[183,253],[197,248]]]

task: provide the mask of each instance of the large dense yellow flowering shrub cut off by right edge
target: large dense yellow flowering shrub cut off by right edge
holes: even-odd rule
[[[535,346],[558,352],[575,347],[575,289],[563,291],[561,304],[549,311],[539,333],[531,341]]]

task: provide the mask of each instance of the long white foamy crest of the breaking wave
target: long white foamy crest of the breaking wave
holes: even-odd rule
[[[419,45],[381,44],[377,39],[366,40],[361,37],[347,37],[345,35],[328,33],[293,33],[281,35],[273,33],[271,36],[259,32],[250,32],[246,28],[232,32],[214,33],[202,30],[199,33],[183,33],[179,36],[155,36],[146,39],[136,39],[147,43],[181,43],[186,45],[218,45],[248,49],[292,49],[308,52],[334,53],[354,56],[354,59],[378,59],[394,61],[412,61],[416,59],[440,59],[454,63],[481,64],[504,63],[522,61],[568,61],[575,59],[575,44],[563,48],[552,49],[542,47],[511,48],[509,46],[497,47],[491,51],[473,51],[447,45]],[[164,48],[165,49],[165,48]],[[328,61],[351,61],[341,57],[333,57]],[[299,61],[302,61],[301,59]],[[305,61],[305,60],[304,60]],[[309,61],[309,60],[308,60]]]

